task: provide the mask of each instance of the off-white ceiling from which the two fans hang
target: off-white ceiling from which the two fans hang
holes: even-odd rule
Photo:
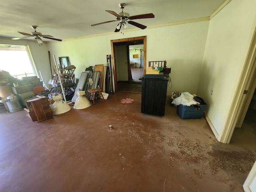
[[[130,16],[153,13],[155,18],[133,20],[146,26],[179,22],[211,16],[226,0],[2,0],[0,2],[0,36],[22,37],[19,32],[34,31],[68,39],[114,32],[118,22],[98,26],[92,24],[116,20],[105,10],[124,12]],[[136,28],[128,24],[128,29]],[[141,30],[140,28],[136,28]],[[27,38],[34,39],[34,38]],[[48,41],[46,38],[42,38]]]

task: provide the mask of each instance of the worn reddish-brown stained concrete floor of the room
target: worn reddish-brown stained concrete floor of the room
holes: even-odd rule
[[[24,110],[2,111],[0,191],[243,191],[256,157],[255,126],[222,144],[204,117],[181,119],[170,98],[165,116],[142,114],[135,86],[42,122]]]

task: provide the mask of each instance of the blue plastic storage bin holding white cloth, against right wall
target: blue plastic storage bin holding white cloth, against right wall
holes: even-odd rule
[[[193,106],[178,105],[177,114],[182,119],[200,119],[203,116],[205,105],[200,105],[200,110],[197,110]]]

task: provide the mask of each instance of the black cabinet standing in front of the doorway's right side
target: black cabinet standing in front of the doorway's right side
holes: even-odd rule
[[[164,116],[168,78],[142,80],[141,112]]]

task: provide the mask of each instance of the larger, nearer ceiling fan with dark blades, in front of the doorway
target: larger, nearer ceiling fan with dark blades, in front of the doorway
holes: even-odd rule
[[[93,24],[91,26],[96,26],[96,25],[100,25],[100,24],[104,24],[104,23],[109,23],[109,22],[115,22],[115,21],[120,21],[118,23],[118,25],[116,26],[116,30],[115,32],[119,32],[121,27],[124,26],[124,28],[126,29],[127,28],[127,24],[131,24],[133,26],[136,26],[138,28],[141,28],[141,29],[145,29],[147,26],[144,26],[142,24],[139,24],[137,22],[134,22],[134,21],[130,21],[130,20],[133,20],[133,19],[145,19],[145,18],[154,18],[154,14],[152,13],[148,13],[148,14],[141,14],[141,15],[134,15],[134,16],[130,16],[128,13],[126,12],[123,12],[123,9],[125,7],[125,4],[124,3],[120,3],[119,4],[119,7],[122,9],[122,12],[120,13],[116,13],[114,11],[110,11],[110,10],[105,10],[106,12],[116,16],[116,20],[111,20],[111,21],[106,21],[106,22],[102,22],[102,23],[97,23],[97,24]]]

